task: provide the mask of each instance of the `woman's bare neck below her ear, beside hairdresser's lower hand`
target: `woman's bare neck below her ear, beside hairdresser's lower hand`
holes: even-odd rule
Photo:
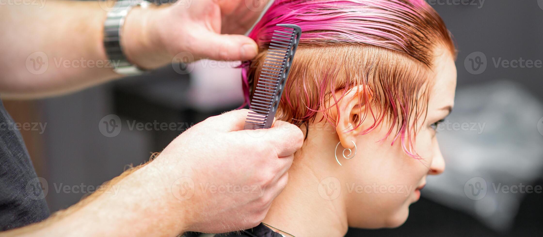
[[[344,236],[348,222],[343,196],[330,200],[323,191],[333,192],[330,188],[334,187],[321,182],[327,177],[337,176],[326,169],[327,162],[318,162],[324,159],[318,157],[323,154],[322,148],[305,147],[304,150],[318,150],[320,153],[310,152],[294,158],[288,171],[287,187],[271,204],[262,222],[285,236]]]

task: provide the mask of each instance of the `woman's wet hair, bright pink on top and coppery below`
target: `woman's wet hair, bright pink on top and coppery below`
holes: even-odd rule
[[[363,100],[378,109],[374,113],[369,106],[353,129],[368,114],[375,122],[361,134],[388,118],[392,126],[386,137],[397,128],[392,144],[401,137],[405,152],[418,157],[416,120],[427,110],[433,50],[445,45],[456,55],[450,32],[430,5],[424,0],[276,0],[249,34],[261,53],[257,60],[242,64],[246,103],[271,35],[279,29],[276,24],[302,29],[277,119],[307,128],[322,111],[335,125],[339,118],[331,119],[330,108],[319,108],[330,100],[337,106],[351,88],[368,85]],[[339,98],[337,91],[342,92]]]

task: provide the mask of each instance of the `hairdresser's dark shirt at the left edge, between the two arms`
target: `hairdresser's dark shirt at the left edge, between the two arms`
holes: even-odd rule
[[[45,180],[36,175],[21,133],[0,100],[0,231],[49,216]]]

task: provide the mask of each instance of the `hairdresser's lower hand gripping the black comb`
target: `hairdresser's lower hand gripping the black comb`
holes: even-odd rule
[[[301,130],[284,121],[261,133],[242,130],[248,111],[196,124],[148,164],[160,170],[157,186],[168,190],[163,201],[184,231],[255,227],[287,184],[293,154],[304,140]]]

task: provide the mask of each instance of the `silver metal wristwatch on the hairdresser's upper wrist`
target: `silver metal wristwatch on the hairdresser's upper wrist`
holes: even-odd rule
[[[108,12],[108,18],[104,23],[104,48],[105,52],[112,63],[113,70],[121,75],[138,75],[142,74],[143,70],[136,65],[128,62],[124,54],[123,45],[121,45],[122,29],[124,19],[128,12],[134,6],[147,8],[151,3],[144,0],[119,0],[113,5],[113,8]],[[118,63],[117,63],[118,62]]]

